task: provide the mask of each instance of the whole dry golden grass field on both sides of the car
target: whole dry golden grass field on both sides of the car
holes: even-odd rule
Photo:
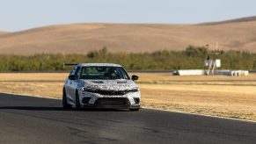
[[[133,75],[133,74],[129,74]],[[137,73],[143,107],[256,120],[256,75],[170,76]],[[0,74],[0,92],[62,97],[68,74]]]

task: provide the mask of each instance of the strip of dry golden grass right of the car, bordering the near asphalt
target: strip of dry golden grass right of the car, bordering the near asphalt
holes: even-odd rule
[[[256,119],[252,86],[141,84],[143,106],[165,110]]]

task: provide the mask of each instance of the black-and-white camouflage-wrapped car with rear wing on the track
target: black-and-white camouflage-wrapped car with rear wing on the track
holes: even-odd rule
[[[141,92],[125,68],[113,63],[79,63],[63,85],[62,106],[139,111]]]

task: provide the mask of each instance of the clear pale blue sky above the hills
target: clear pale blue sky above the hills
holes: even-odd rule
[[[255,0],[0,0],[0,31],[74,23],[197,24],[256,16]]]

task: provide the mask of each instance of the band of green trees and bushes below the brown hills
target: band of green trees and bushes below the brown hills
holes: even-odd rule
[[[63,63],[118,63],[129,70],[174,70],[204,68],[204,60],[219,58],[222,69],[256,69],[256,54],[247,51],[213,51],[188,46],[184,51],[110,53],[104,47],[87,54],[0,55],[1,72],[64,71]]]

